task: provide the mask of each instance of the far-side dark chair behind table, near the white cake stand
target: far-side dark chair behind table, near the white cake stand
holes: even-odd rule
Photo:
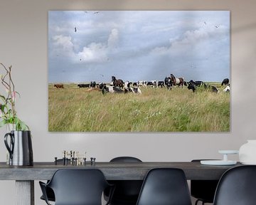
[[[191,162],[200,162],[201,160],[204,159],[193,159]],[[217,185],[218,180],[191,180],[191,196],[197,199],[195,205],[199,201],[202,202],[202,205],[213,203]]]

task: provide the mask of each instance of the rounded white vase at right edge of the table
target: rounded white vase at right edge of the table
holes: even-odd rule
[[[256,140],[247,140],[239,149],[239,161],[242,164],[256,164]]]

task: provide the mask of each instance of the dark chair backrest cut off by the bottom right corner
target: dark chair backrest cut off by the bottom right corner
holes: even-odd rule
[[[215,205],[255,205],[256,166],[228,169],[220,178],[215,193]]]

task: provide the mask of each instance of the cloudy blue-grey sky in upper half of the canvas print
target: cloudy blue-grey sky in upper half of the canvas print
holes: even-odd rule
[[[230,11],[49,11],[49,83],[230,78]]]

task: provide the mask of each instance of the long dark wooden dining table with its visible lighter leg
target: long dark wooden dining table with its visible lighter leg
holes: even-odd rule
[[[0,180],[16,181],[16,204],[34,205],[34,181],[48,180],[58,169],[100,169],[107,180],[143,180],[150,169],[170,167],[182,169],[186,179],[216,180],[235,165],[202,165],[200,162],[86,162],[70,163],[33,162],[33,166],[11,166],[0,162]]]

